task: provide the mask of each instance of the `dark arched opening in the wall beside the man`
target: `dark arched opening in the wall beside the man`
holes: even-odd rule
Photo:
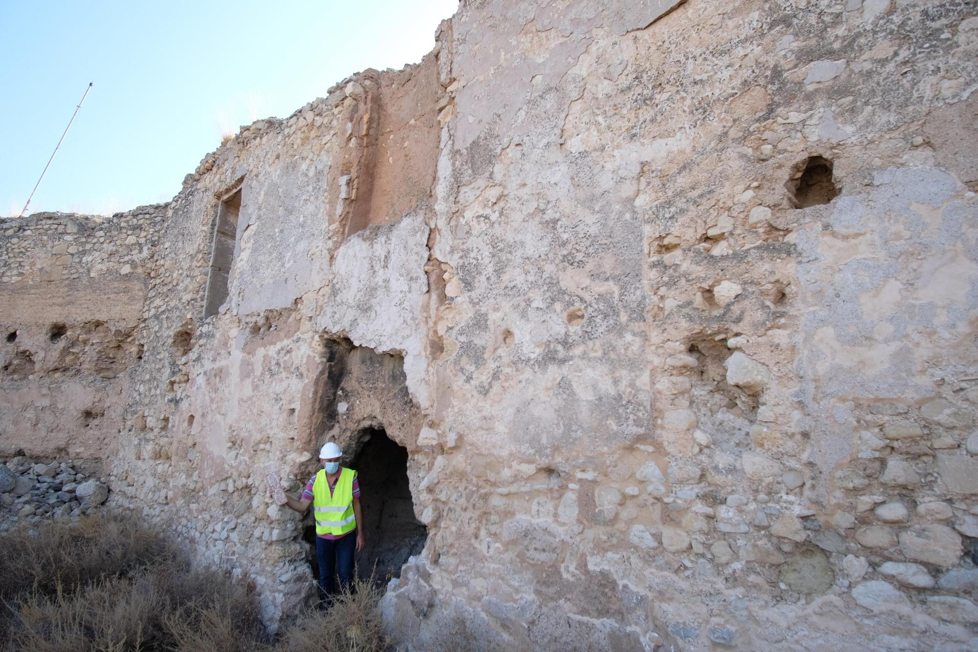
[[[383,428],[365,428],[350,462],[357,472],[367,547],[357,555],[357,573],[369,578],[375,567],[381,586],[401,576],[408,557],[419,554],[427,528],[415,517],[408,482],[408,451]]]

